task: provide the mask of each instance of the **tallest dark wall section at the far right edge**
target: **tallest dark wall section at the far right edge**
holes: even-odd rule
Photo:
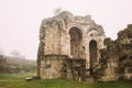
[[[132,24],[118,33],[119,74],[121,79],[132,79]]]

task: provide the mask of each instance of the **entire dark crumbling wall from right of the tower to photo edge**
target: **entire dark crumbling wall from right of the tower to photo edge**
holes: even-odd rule
[[[101,80],[132,79],[132,24],[118,33],[118,38],[105,40],[101,50]]]

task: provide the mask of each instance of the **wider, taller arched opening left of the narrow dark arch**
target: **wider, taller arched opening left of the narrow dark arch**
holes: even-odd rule
[[[70,55],[73,58],[81,58],[81,40],[82,40],[82,34],[81,31],[74,26],[69,30],[69,35],[70,35]]]

